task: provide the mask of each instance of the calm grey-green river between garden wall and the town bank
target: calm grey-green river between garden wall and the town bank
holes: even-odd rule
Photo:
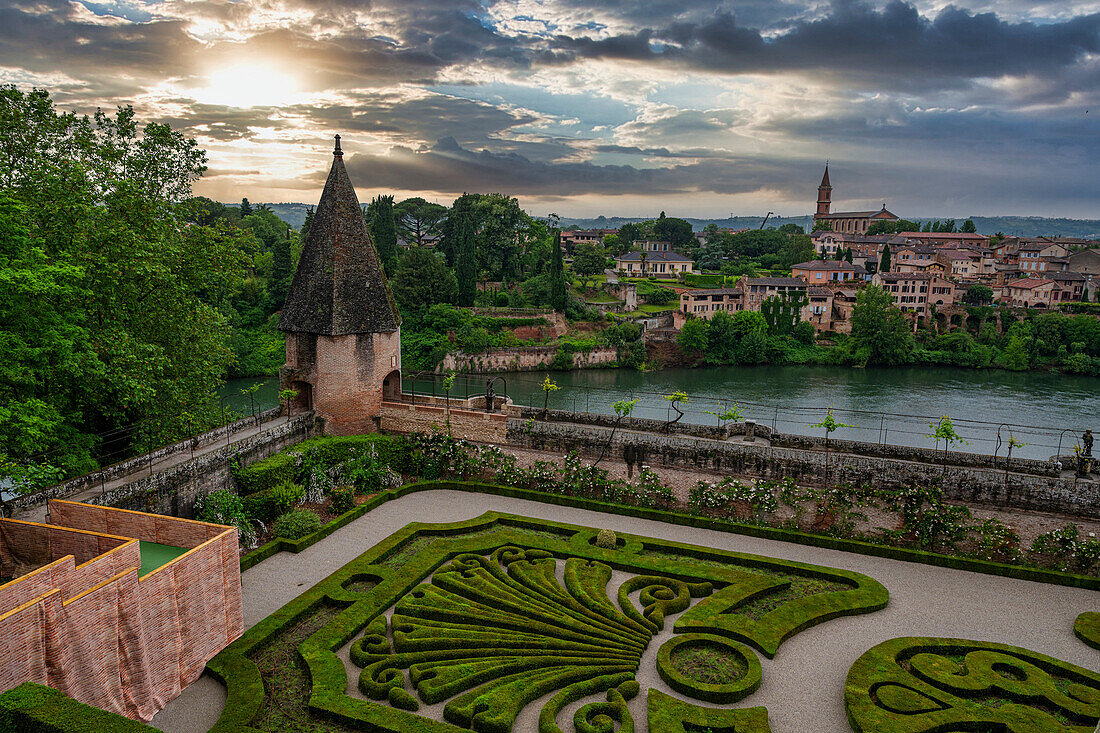
[[[542,372],[516,372],[495,389],[525,405],[542,406]],[[1013,456],[1047,459],[1058,448],[1071,452],[1086,427],[1100,428],[1100,379],[1052,372],[977,371],[967,369],[850,369],[845,366],[713,366],[638,372],[625,369],[550,372],[561,390],[550,393],[558,409],[614,414],[619,400],[637,398],[634,415],[668,419],[675,416],[663,395],[686,392],[684,420],[716,424],[706,411],[723,412],[737,404],[745,417],[773,425],[783,433],[824,435],[820,423],[833,408],[838,422],[850,425],[835,438],[887,441],[931,447],[930,423],[949,415],[968,441],[958,450],[1003,456],[1010,434],[1026,445]],[[256,408],[274,407],[277,380],[233,380],[220,391],[227,404],[248,413],[249,398],[240,390],[260,382]],[[442,393],[437,379],[436,390]],[[507,386],[505,386],[505,384]],[[409,389],[406,382],[405,390]],[[481,394],[485,378],[455,380],[454,396]],[[431,392],[421,378],[417,392]],[[1003,427],[1002,427],[1003,425]],[[997,446],[1000,428],[1001,447]]]

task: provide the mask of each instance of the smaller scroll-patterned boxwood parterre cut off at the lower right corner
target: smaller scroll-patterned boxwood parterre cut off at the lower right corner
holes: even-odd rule
[[[1005,644],[902,637],[856,660],[845,709],[857,733],[1092,733],[1100,675]]]

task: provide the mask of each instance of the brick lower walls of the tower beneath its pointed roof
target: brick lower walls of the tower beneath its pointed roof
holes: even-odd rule
[[[317,339],[311,369],[302,370],[299,362],[294,378],[310,385],[311,407],[323,433],[356,435],[377,430],[383,384],[394,372],[400,373],[400,329],[392,333],[296,336]],[[399,382],[396,389],[399,393]]]

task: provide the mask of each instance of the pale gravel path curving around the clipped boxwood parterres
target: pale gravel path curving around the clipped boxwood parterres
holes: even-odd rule
[[[280,553],[246,571],[245,627],[410,522],[458,522],[487,511],[846,568],[886,586],[890,591],[887,609],[826,622],[788,639],[773,660],[761,656],[763,685],[738,707],[767,707],[773,733],[848,731],[843,699],[848,667],[867,649],[898,636],[1000,642],[1090,669],[1100,666],[1097,652],[1072,634],[1077,614],[1100,610],[1096,591],[452,491],[420,492],[389,502],[298,555]],[[639,674],[644,687],[648,671]],[[162,710],[152,724],[170,733],[205,733],[223,704],[224,690],[204,677]]]

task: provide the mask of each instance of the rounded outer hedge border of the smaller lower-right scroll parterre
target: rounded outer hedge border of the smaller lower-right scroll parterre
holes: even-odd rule
[[[1048,674],[1057,672],[1063,677],[1070,678],[1076,683],[1081,683],[1082,681],[1089,682],[1092,689],[1100,690],[1100,674],[1023,647],[961,638],[901,636],[871,647],[860,655],[848,669],[844,687],[844,709],[851,730],[856,733],[909,733],[916,730],[914,729],[914,724],[917,723],[926,725],[926,727],[922,727],[921,730],[928,731],[985,731],[993,730],[994,727],[1000,730],[1000,725],[1005,725],[1004,730],[1007,731],[1038,730],[1034,727],[1035,720],[1026,714],[1026,712],[1021,712],[1016,705],[1005,705],[1004,709],[996,713],[986,713],[985,705],[970,702],[971,698],[987,697],[991,688],[952,692],[931,685],[917,674],[914,674],[914,671],[905,670],[901,667],[902,660],[912,660],[919,654],[965,656],[971,652],[998,652],[1005,654],[1038,667]],[[997,672],[996,670],[993,674],[1001,674],[1007,679],[1018,679],[1008,677],[1003,672]],[[969,675],[961,675],[959,679],[963,680],[968,677]],[[928,703],[934,702],[936,704],[925,703],[925,710],[913,709],[906,712],[888,710],[875,703],[875,698],[878,698],[881,689],[888,686],[901,688],[901,690],[915,700],[928,700]],[[1066,693],[1063,692],[1063,694]],[[1032,698],[1031,694],[1021,696],[1008,691],[1004,691],[1003,696],[1022,705],[1026,705]],[[961,704],[945,703],[945,698],[960,700]],[[967,718],[967,708],[972,711],[975,705],[981,708],[979,713],[986,713],[990,718],[1000,716],[1001,720],[976,720]],[[927,718],[923,721],[915,721],[914,718],[917,714],[926,715]]]

